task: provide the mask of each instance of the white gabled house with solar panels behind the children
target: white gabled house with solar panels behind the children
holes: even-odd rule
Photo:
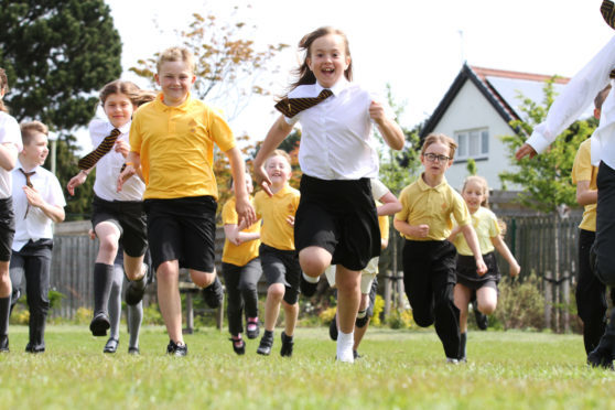
[[[472,158],[476,161],[477,173],[487,179],[489,187],[501,190],[499,173],[515,164],[499,137],[514,134],[509,123],[524,118],[522,98],[543,102],[543,88],[550,78],[552,76],[463,65],[421,131],[421,138],[438,132],[457,142],[455,162],[446,172],[446,180],[453,187],[461,190],[467,176],[467,159]],[[555,94],[560,94],[569,80],[557,78]],[[591,116],[592,110],[587,110],[583,118]],[[509,185],[507,188],[519,187]]]

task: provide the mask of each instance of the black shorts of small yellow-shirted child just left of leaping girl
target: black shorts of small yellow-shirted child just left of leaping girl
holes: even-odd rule
[[[282,283],[285,288],[284,302],[295,304],[299,300],[301,266],[295,250],[280,250],[265,244],[259,248],[260,265],[267,284]]]

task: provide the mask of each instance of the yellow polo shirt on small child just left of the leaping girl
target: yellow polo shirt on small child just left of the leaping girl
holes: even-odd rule
[[[294,227],[287,217],[294,216],[299,206],[299,191],[290,185],[278,191],[273,196],[259,191],[255,195],[255,211],[262,218],[260,240],[272,248],[294,250]]]

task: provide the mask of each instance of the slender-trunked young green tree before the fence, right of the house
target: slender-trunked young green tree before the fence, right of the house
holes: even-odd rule
[[[515,152],[526,142],[531,134],[533,127],[544,120],[549,107],[554,99],[553,91],[554,78],[544,85],[544,100],[542,105],[522,98],[521,111],[527,120],[515,120],[510,122],[516,130],[514,136],[501,137],[509,151],[509,158],[515,162]],[[522,96],[521,96],[522,97]],[[549,150],[533,159],[522,159],[517,162],[516,170],[506,171],[499,174],[503,184],[511,182],[522,186],[519,193],[519,201],[525,206],[552,215],[554,231],[554,267],[552,278],[546,276],[546,288],[551,282],[559,283],[560,274],[560,250],[559,250],[559,225],[564,213],[562,209],[576,205],[576,188],[570,182],[570,174],[574,163],[574,157],[581,142],[591,137],[596,127],[595,119],[580,120],[567,129],[562,136],[558,137],[550,145]],[[547,272],[546,272],[547,273]],[[558,299],[555,292],[555,300]],[[568,294],[563,294],[564,304]],[[555,312],[559,314],[559,312]],[[547,300],[546,325],[551,322],[551,301]],[[568,312],[564,311],[564,327],[568,328]],[[559,320],[555,321],[555,330],[559,330]]]

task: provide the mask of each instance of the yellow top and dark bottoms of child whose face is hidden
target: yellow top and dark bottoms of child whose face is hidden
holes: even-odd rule
[[[253,198],[250,198],[253,204]],[[231,197],[224,204],[222,218],[224,225],[238,225],[239,217],[235,209],[236,199]],[[242,230],[244,233],[260,233],[260,223]],[[231,335],[244,332],[244,309],[247,317],[258,317],[257,285],[262,273],[258,248],[260,239],[248,240],[235,245],[225,239],[222,257],[222,269],[226,291],[228,292],[227,316],[228,331]]]

